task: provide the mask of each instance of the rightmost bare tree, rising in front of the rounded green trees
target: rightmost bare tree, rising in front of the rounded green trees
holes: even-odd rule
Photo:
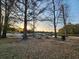
[[[64,24],[64,36],[67,36],[66,25],[67,25],[67,21],[68,21],[67,20],[68,19],[68,11],[69,11],[68,5],[67,4],[61,4],[59,18],[63,19],[62,23]]]

